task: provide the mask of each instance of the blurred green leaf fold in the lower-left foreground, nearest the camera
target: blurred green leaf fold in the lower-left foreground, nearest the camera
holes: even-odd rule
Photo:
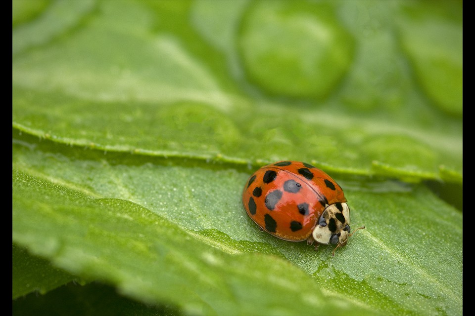
[[[136,203],[91,198],[20,171],[13,181],[14,240],[149,304],[171,301],[187,314],[199,315],[363,311],[344,297],[325,298],[310,276],[281,258],[242,253],[229,238],[214,238],[209,243],[218,248],[212,247],[205,235],[180,228]],[[33,200],[36,207],[29,205]]]

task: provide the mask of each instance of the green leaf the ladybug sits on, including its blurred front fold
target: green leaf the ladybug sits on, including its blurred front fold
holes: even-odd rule
[[[331,247],[314,253],[257,229],[239,198],[248,172],[169,159],[132,163],[75,147],[58,153],[54,143],[30,141],[14,146],[13,239],[146,303],[218,315],[305,314],[317,305],[323,314],[358,314],[352,301],[380,310],[381,297],[382,310],[395,314],[457,314],[461,304],[462,218],[422,186],[340,181],[353,226],[367,229],[332,258]],[[255,302],[244,299],[248,291]],[[372,295],[362,300],[361,291]],[[331,298],[347,302],[338,307]]]

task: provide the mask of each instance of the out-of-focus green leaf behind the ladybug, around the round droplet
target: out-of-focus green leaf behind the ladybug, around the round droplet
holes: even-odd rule
[[[208,60],[201,55],[219,52],[215,45],[196,37],[181,40],[181,29],[171,36],[170,30],[160,32],[153,27],[164,14],[178,19],[184,10],[194,13],[193,23],[197,24],[204,14],[202,6],[210,3],[182,4],[175,10],[169,2],[152,3],[159,8],[99,2],[100,14],[91,14],[87,23],[78,18],[78,29],[70,36],[53,40],[55,33],[45,29],[45,34],[54,33],[48,38],[49,45],[14,53],[13,126],[39,137],[108,151],[253,164],[300,159],[349,174],[461,183],[461,123],[430,112],[414,96],[406,68],[387,60],[398,56],[394,44],[373,53],[377,60],[386,58],[380,60],[380,67],[389,63],[391,73],[398,74],[397,82],[385,86],[401,88],[392,92],[378,88],[392,95],[391,100],[367,90],[366,96],[373,101],[364,101],[377,102],[386,111],[355,112],[360,105],[347,100],[360,100],[357,95],[362,87],[352,83],[345,83],[335,98],[320,104],[270,103],[253,99],[236,81],[231,84],[237,75],[226,71],[226,59]],[[239,3],[234,14],[251,14]],[[343,14],[351,5],[351,1],[344,2],[332,10],[346,24],[354,23],[351,15]],[[296,6],[294,14],[298,16],[303,9]],[[15,28],[13,42],[28,40],[18,34],[24,28],[36,38],[41,26],[35,23]],[[182,23],[192,27],[187,20]],[[197,30],[212,37],[212,30]],[[234,61],[237,57],[228,58]],[[358,72],[368,69],[372,59],[355,58],[355,71],[348,73],[351,81],[358,82],[354,76],[371,77],[371,73]],[[282,69],[283,74],[285,71]],[[447,177],[449,173],[455,177]]]

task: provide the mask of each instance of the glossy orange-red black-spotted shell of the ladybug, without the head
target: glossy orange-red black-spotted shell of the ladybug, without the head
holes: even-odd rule
[[[324,171],[300,161],[278,161],[246,182],[242,203],[268,233],[291,241],[307,239],[325,205],[346,202],[341,187]]]

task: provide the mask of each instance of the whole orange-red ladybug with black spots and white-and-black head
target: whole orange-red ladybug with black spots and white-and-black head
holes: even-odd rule
[[[242,203],[249,217],[269,234],[309,245],[346,245],[350,208],[341,187],[324,171],[300,161],[278,161],[247,180]],[[365,228],[360,227],[358,229]]]

